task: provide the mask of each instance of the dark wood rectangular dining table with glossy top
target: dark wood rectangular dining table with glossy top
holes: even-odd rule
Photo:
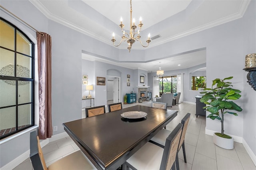
[[[147,115],[127,119],[121,116],[127,111],[143,111]],[[136,105],[66,122],[63,126],[97,169],[116,170],[170,123],[177,113],[176,110]]]

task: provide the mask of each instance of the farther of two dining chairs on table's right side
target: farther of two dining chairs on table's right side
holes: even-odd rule
[[[187,163],[186,150],[185,150],[185,135],[186,135],[186,131],[188,129],[189,118],[190,118],[190,113],[187,113],[181,120],[183,127],[182,127],[182,135],[180,137],[180,143],[179,143],[179,147],[178,147],[178,152],[180,151],[180,148],[182,147],[185,163]],[[150,142],[164,148],[165,139],[166,139],[166,137],[168,137],[168,135],[170,133],[171,133],[171,131],[169,131],[167,129],[161,129],[154,137],[151,138]],[[179,170],[178,154],[177,154],[177,158],[176,158],[176,168],[177,168],[177,170]]]

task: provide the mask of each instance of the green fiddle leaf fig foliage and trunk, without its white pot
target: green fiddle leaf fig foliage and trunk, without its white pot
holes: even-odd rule
[[[221,133],[216,135],[224,138],[231,138],[224,134],[224,114],[229,113],[237,116],[238,114],[234,111],[242,111],[242,108],[232,101],[241,97],[239,94],[241,91],[231,88],[232,83],[225,81],[232,78],[227,77],[223,80],[216,78],[212,80],[212,88],[204,88],[204,92],[200,92],[204,94],[200,102],[206,104],[206,107],[203,108],[210,112],[207,117],[213,120],[218,119],[221,122]]]

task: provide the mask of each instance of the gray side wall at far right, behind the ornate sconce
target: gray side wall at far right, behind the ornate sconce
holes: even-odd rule
[[[256,53],[256,1],[251,1],[246,13],[243,17],[243,56]],[[244,98],[244,126],[243,126],[243,138],[249,145],[250,149],[256,155],[256,91],[246,82],[248,72],[243,72],[243,98]]]

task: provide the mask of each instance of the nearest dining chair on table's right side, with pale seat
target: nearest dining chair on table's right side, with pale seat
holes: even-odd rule
[[[170,170],[176,169],[174,162],[178,154],[178,145],[182,133],[182,124],[168,135],[164,149],[152,143],[146,143],[142,148],[135,152],[123,164],[123,169],[132,170]]]

